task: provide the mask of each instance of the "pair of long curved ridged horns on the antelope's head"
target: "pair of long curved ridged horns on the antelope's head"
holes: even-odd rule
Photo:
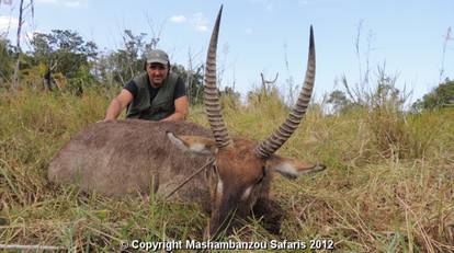
[[[208,54],[206,57],[206,70],[205,70],[205,96],[204,103],[206,114],[213,136],[216,140],[216,146],[219,149],[234,146],[234,141],[228,135],[227,127],[223,119],[220,112],[220,103],[216,88],[216,48],[217,38],[219,34],[220,16],[223,13],[223,7],[216,18],[216,23],[213,28],[212,37],[209,39]],[[304,115],[306,114],[307,106],[309,105],[310,96],[313,94],[313,88],[315,82],[316,59],[315,59],[315,44],[314,32],[310,26],[309,38],[309,54],[307,60],[307,70],[304,81],[304,87],[298,95],[298,100],[295,106],[292,108],[285,122],[273,131],[265,140],[261,141],[256,148],[256,154],[259,158],[269,158],[277,149],[280,149],[284,142],[296,130]]]

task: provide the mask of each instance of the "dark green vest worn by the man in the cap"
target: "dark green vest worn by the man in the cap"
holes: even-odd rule
[[[140,118],[147,120],[160,120],[175,112],[173,93],[178,76],[170,72],[159,88],[158,94],[150,101],[150,84],[147,72],[133,79],[137,85],[137,95],[127,107],[126,118]]]

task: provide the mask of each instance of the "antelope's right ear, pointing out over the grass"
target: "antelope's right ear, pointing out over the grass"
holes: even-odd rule
[[[266,170],[276,171],[288,179],[296,179],[300,175],[319,172],[326,169],[324,164],[310,164],[292,158],[272,156],[266,160]]]

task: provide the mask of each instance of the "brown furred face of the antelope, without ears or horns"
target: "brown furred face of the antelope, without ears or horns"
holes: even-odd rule
[[[230,218],[229,214],[232,211],[237,218],[246,218],[258,202],[262,203],[259,208],[262,215],[273,210],[263,205],[269,202],[272,174],[266,172],[265,160],[256,156],[256,142],[245,138],[234,138],[234,147],[220,149],[215,156],[218,176],[223,182],[223,194],[220,197],[216,194],[217,182],[214,181],[211,185],[212,217],[208,223],[212,235],[227,228],[225,220]],[[242,194],[248,187],[251,187],[251,193],[242,199]],[[280,221],[274,222],[280,223]],[[276,226],[273,228],[270,231],[279,231]]]

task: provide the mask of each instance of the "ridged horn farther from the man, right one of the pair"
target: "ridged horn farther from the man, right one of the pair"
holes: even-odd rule
[[[292,136],[292,134],[298,128],[304,115],[306,114],[307,106],[309,105],[310,96],[313,94],[313,88],[315,82],[316,72],[316,57],[315,57],[315,43],[314,31],[310,26],[309,38],[309,54],[307,59],[306,78],[304,87],[299,93],[298,101],[292,108],[285,122],[273,131],[264,141],[260,142],[256,148],[256,154],[259,158],[269,158],[277,149],[284,145],[284,142]]]

